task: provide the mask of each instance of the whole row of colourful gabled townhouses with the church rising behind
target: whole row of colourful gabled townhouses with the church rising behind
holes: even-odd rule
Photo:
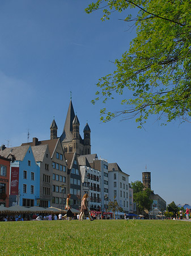
[[[60,137],[53,120],[50,139],[33,138],[32,142],[19,147],[3,145],[0,179],[3,177],[4,181],[0,183],[0,204],[63,209],[67,193],[71,193],[71,207],[79,209],[83,194],[88,193],[91,210],[107,210],[109,200],[117,200],[126,213],[131,212],[133,195],[129,175],[122,172],[117,163],[110,164],[98,159],[97,154],[91,154],[90,127],[86,123],[82,139],[79,125],[70,101]],[[3,159],[7,166],[1,162]],[[7,195],[6,200],[1,196],[3,193]]]

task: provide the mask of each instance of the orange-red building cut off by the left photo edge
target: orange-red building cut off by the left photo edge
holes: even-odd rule
[[[9,207],[10,159],[0,156],[0,205]]]

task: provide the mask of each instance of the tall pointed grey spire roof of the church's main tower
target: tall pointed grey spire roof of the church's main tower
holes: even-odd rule
[[[62,135],[60,137],[61,142],[66,138],[67,141],[71,141],[73,139],[73,121],[75,118],[75,114],[74,114],[74,108],[73,108],[73,104],[70,100],[70,105],[69,105],[69,109],[67,110],[67,115],[66,115],[66,121],[65,121],[65,126],[63,127],[63,132]]]

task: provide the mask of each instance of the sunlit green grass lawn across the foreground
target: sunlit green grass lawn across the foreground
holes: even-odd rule
[[[0,222],[0,255],[191,255],[191,222]]]

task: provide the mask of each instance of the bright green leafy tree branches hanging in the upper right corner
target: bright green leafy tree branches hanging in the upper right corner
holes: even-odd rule
[[[134,18],[130,9],[138,10]],[[103,20],[113,11],[125,15],[124,22],[133,22],[137,36],[129,49],[116,59],[116,71],[102,77],[97,86],[95,103],[122,95],[122,111],[101,109],[106,122],[122,115],[136,117],[142,127],[150,114],[158,119],[190,121],[191,111],[191,1],[190,0],[97,0],[87,13],[101,9]],[[127,90],[132,97],[126,98]]]

